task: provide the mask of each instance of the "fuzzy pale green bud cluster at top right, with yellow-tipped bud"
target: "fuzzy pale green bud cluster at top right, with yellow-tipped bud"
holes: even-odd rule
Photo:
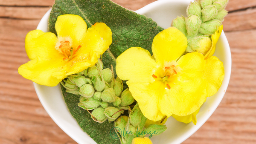
[[[177,17],[172,21],[172,26],[188,39],[186,52],[208,52],[210,36],[218,30],[227,15],[227,3],[228,0],[196,0],[186,10],[188,17]],[[203,43],[207,46],[202,46]]]

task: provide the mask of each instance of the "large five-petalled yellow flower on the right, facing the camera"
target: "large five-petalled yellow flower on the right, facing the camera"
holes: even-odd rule
[[[154,37],[154,58],[147,50],[132,47],[116,59],[118,77],[128,80],[132,96],[149,120],[190,115],[204,103],[204,56],[198,52],[183,55],[186,47],[185,35],[170,27]]]

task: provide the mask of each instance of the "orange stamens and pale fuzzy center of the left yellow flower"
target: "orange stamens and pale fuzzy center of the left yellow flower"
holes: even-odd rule
[[[81,47],[81,45],[79,45],[74,49],[72,44],[72,39],[70,37],[58,37],[58,40],[55,43],[55,49],[65,56],[63,60],[71,60],[75,57],[76,52],[78,52]]]

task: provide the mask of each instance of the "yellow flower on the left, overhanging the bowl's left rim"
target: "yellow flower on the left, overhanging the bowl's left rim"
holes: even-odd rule
[[[93,66],[112,43],[111,29],[105,23],[95,23],[87,29],[78,15],[59,16],[55,29],[58,37],[41,30],[26,35],[25,49],[30,61],[18,69],[24,78],[56,86],[67,75]]]

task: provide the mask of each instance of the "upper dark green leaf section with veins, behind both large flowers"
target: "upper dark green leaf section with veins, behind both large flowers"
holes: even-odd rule
[[[163,30],[151,18],[129,11],[110,0],[55,0],[49,18],[49,31],[56,34],[55,22],[62,14],[77,14],[91,27],[96,22],[106,23],[112,30],[113,43],[103,54],[105,68],[114,72],[116,58],[130,47],[142,47],[151,52],[155,35]]]

